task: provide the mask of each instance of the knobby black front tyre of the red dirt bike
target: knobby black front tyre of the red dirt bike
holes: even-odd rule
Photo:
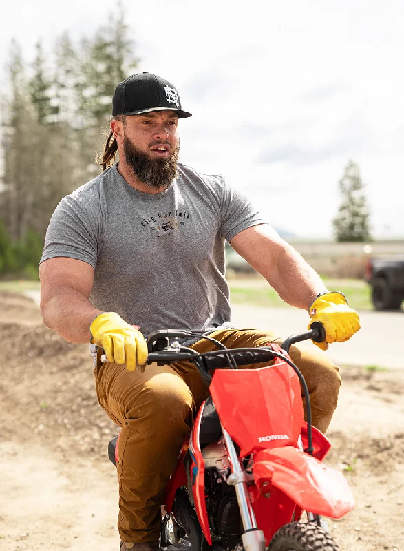
[[[269,551],[338,551],[330,534],[314,523],[293,522],[279,528]]]

